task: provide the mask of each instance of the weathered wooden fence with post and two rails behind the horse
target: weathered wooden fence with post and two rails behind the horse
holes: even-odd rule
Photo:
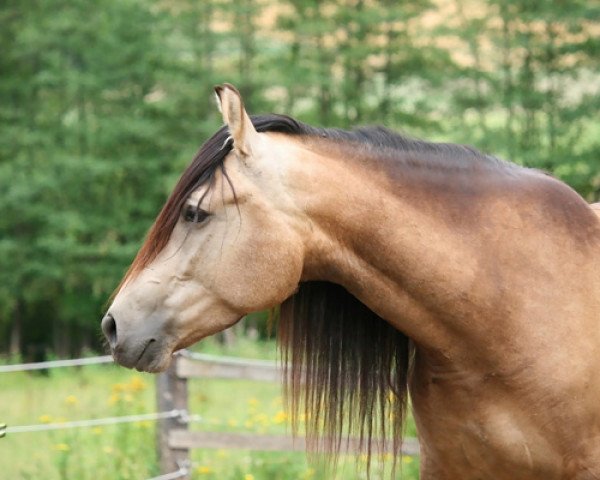
[[[188,387],[190,378],[223,378],[278,382],[281,372],[273,362],[214,357],[187,353],[178,355],[171,367],[158,376],[156,398],[159,411],[188,411]],[[159,421],[157,447],[162,473],[173,472],[189,463],[192,448],[240,449],[261,451],[304,451],[304,438],[286,435],[258,435],[254,433],[225,433],[190,431],[185,418],[168,418]],[[349,443],[349,448],[353,448]],[[404,455],[419,453],[416,439],[405,439]]]

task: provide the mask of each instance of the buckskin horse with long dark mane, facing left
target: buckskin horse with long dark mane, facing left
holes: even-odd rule
[[[318,447],[398,456],[410,396],[424,480],[600,478],[600,212],[468,146],[215,93],[224,126],[102,320],[115,361],[163,371],[279,308],[284,391]]]

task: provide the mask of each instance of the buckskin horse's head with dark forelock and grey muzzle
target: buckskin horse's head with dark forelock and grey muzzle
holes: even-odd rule
[[[306,227],[278,185],[293,153],[257,131],[233,86],[215,93],[225,127],[181,177],[102,320],[126,367],[164,370],[173,351],[280,304],[300,281]]]

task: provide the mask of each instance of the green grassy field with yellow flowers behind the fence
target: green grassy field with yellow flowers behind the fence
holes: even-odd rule
[[[222,353],[212,341],[202,351]],[[231,352],[227,352],[231,355]],[[240,342],[237,355],[274,358],[272,344]],[[9,426],[154,412],[154,376],[113,365],[64,368],[48,374],[2,374],[0,423]],[[192,429],[282,433],[289,431],[277,384],[193,380]],[[414,435],[410,422],[408,435]],[[2,478],[146,479],[158,475],[154,422],[14,433],[0,439]],[[206,480],[325,480],[366,478],[364,459],[343,458],[332,473],[302,453],[195,450],[192,478]],[[356,468],[358,464],[358,469]],[[398,478],[418,478],[418,461],[405,457]],[[377,465],[373,478],[380,478]]]

